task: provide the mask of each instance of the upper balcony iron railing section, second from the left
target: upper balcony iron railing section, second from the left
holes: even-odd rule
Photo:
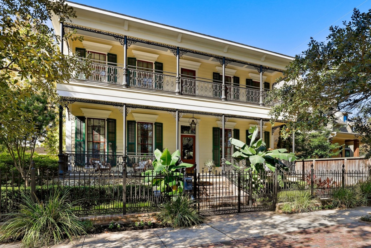
[[[173,75],[128,69],[128,85],[131,87],[175,92],[175,79]]]

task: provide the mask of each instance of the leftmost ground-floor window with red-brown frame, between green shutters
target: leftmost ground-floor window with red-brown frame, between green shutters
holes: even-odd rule
[[[105,153],[105,119],[88,118],[88,153]]]

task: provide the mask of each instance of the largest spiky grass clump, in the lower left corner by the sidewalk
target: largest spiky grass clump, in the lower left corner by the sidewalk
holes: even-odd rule
[[[67,194],[54,192],[45,202],[32,201],[23,195],[19,211],[4,214],[7,221],[0,227],[0,241],[21,239],[25,247],[42,247],[58,244],[65,238],[86,234],[92,228],[91,222],[81,221],[72,209],[76,202],[70,202]]]

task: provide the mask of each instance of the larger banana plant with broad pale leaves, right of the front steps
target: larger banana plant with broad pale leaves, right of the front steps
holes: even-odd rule
[[[263,174],[262,172],[265,170],[264,165],[267,166],[267,168],[269,168],[273,172],[276,169],[287,170],[288,168],[285,166],[284,163],[282,163],[281,160],[292,162],[297,159],[295,153],[292,152],[287,153],[286,149],[275,149],[272,151],[267,151],[266,144],[262,140],[262,138],[256,140],[258,135],[257,126],[250,127],[249,134],[250,134],[248,136],[250,139],[249,144],[245,144],[241,140],[233,138],[229,138],[229,141],[237,149],[237,151],[234,152],[232,155],[233,158],[236,158],[237,160],[249,160],[250,167],[245,169],[245,171],[252,172],[253,181],[257,181],[260,178],[259,175]],[[233,165],[228,161],[226,161],[226,164]],[[236,165],[233,166],[239,169],[238,166]],[[279,183],[280,185],[282,185],[283,180],[280,177],[280,173],[278,174],[278,177]]]

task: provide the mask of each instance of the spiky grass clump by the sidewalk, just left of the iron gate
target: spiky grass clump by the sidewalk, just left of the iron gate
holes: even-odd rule
[[[172,201],[159,205],[157,218],[174,228],[198,225],[203,218],[193,207],[194,204],[196,201],[191,200],[188,195],[177,196]]]

